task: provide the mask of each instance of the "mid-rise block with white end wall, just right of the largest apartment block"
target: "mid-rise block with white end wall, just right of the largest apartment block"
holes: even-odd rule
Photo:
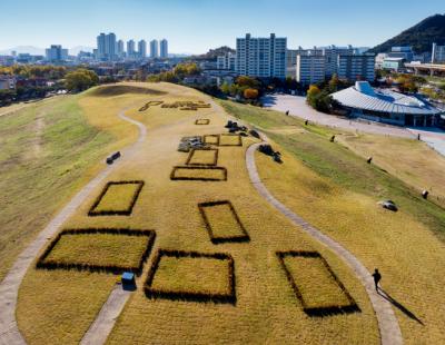
[[[312,85],[326,79],[326,59],[320,55],[297,55],[296,80]]]

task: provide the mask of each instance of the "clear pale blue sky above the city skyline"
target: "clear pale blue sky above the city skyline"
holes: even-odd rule
[[[0,0],[0,49],[50,43],[96,46],[101,31],[167,38],[170,52],[235,46],[235,38],[288,38],[303,46],[375,46],[445,12],[444,0]]]

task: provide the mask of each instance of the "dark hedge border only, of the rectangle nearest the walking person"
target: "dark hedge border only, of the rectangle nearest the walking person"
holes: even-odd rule
[[[343,285],[343,283],[338,279],[337,275],[334,273],[334,270],[330,268],[329,264],[326,262],[326,259],[318,253],[318,252],[305,252],[305,250],[289,250],[289,252],[277,252],[276,253],[278,260],[283,267],[283,269],[286,273],[287,280],[289,282],[290,286],[294,289],[295,295],[297,296],[298,300],[301,303],[303,310],[309,315],[309,316],[328,316],[328,315],[337,315],[337,314],[350,314],[350,313],[356,313],[360,312],[360,308],[357,306],[356,302],[354,298],[350,296],[349,292],[346,289],[346,287]],[[344,292],[346,295],[346,298],[348,299],[349,304],[345,306],[340,305],[332,305],[332,306],[324,306],[324,307],[308,307],[306,305],[305,299],[303,298],[303,295],[300,290],[298,289],[297,284],[295,283],[294,277],[290,274],[290,270],[287,269],[287,266],[285,264],[284,258],[290,256],[290,257],[314,257],[314,258],[319,258],[326,269],[329,272],[330,276],[333,277],[334,282],[340,287],[340,289]]]

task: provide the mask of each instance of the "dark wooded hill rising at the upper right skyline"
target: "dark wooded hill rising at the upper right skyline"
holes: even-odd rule
[[[445,45],[445,14],[428,17],[400,34],[374,47],[373,52],[388,52],[392,47],[411,46],[417,53],[432,50],[433,42]]]

